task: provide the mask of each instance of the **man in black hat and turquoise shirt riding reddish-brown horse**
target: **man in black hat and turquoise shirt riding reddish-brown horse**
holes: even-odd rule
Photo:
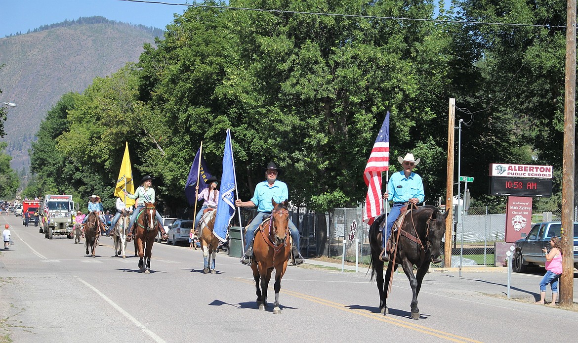
[[[284,182],[277,180],[277,176],[282,172],[281,169],[277,168],[275,163],[269,162],[267,168],[263,168],[265,171],[266,180],[260,182],[255,186],[255,192],[253,198],[249,201],[241,201],[240,199],[235,200],[235,206],[237,207],[253,207],[257,206],[258,213],[251,220],[249,226],[246,227],[247,233],[245,234],[245,255],[241,257],[241,263],[244,265],[251,264],[251,256],[253,256],[253,238],[255,238],[255,231],[259,225],[263,222],[263,217],[271,215],[273,211],[273,204],[271,199],[275,202],[285,201],[288,198],[287,185]],[[291,239],[293,241],[292,253],[294,257],[294,263],[299,265],[303,263],[303,256],[299,253],[299,230],[295,224],[289,219],[289,230],[291,231]]]

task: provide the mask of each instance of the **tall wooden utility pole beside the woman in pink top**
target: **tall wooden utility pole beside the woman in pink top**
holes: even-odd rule
[[[562,160],[562,276],[560,305],[574,298],[574,149],[576,120],[576,0],[566,1],[566,77],[564,86],[564,152]]]

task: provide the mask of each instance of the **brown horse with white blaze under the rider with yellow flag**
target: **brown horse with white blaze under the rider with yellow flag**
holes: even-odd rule
[[[154,239],[158,234],[157,209],[152,202],[144,202],[144,208],[136,217],[135,241],[139,250],[139,269],[150,273],[150,258],[153,252]],[[144,260],[143,261],[143,257]]]

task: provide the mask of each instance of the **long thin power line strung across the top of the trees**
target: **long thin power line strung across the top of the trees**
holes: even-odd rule
[[[200,7],[200,8],[246,10],[246,11],[256,11],[256,12],[309,14],[309,15],[313,15],[313,16],[346,17],[346,18],[362,18],[362,19],[409,20],[409,21],[430,21],[430,22],[434,22],[434,23],[451,23],[451,24],[481,24],[481,25],[504,25],[504,26],[522,26],[522,27],[525,26],[525,27],[566,28],[566,25],[492,23],[492,22],[485,22],[485,21],[467,21],[467,20],[440,20],[440,19],[421,19],[421,18],[402,18],[402,17],[363,16],[361,14],[301,12],[301,11],[289,11],[289,10],[280,10],[280,9],[243,8],[243,7],[217,6],[217,5],[200,5],[197,3],[173,3],[173,2],[149,1],[149,0],[117,0],[117,1],[156,3],[159,5],[171,5],[171,6],[187,6],[187,7]]]

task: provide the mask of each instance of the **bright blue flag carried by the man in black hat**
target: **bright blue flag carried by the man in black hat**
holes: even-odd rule
[[[235,215],[235,163],[233,161],[233,146],[231,145],[231,131],[227,129],[225,153],[223,154],[223,176],[221,177],[220,199],[217,204],[217,217],[213,227],[213,234],[225,242],[231,219]]]

